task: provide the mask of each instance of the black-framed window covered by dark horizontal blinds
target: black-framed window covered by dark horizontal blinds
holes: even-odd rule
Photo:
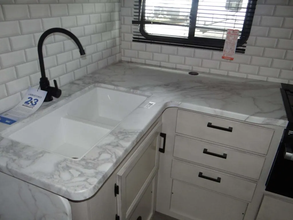
[[[239,30],[244,53],[256,0],[139,0],[133,41],[222,50],[227,29]]]

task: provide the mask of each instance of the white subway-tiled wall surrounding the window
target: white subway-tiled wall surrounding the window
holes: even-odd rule
[[[258,0],[245,55],[132,42],[134,0],[123,0],[122,60],[293,84],[293,0]]]

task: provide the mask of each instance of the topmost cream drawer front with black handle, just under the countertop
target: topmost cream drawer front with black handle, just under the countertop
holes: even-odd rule
[[[178,110],[176,132],[265,155],[274,133],[265,128],[182,110]]]

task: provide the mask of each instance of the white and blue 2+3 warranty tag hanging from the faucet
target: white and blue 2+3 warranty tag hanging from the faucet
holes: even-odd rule
[[[0,122],[5,124],[13,124],[16,121],[33,114],[44,102],[46,94],[46,91],[29,88],[17,106],[0,115]]]

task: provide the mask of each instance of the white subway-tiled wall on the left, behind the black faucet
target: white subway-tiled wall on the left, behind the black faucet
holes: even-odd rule
[[[48,37],[43,51],[51,85],[121,60],[120,10],[119,0],[0,0],[0,113],[15,106],[28,87],[38,87],[38,39],[49,28],[71,31],[86,51],[81,58],[73,41]]]

